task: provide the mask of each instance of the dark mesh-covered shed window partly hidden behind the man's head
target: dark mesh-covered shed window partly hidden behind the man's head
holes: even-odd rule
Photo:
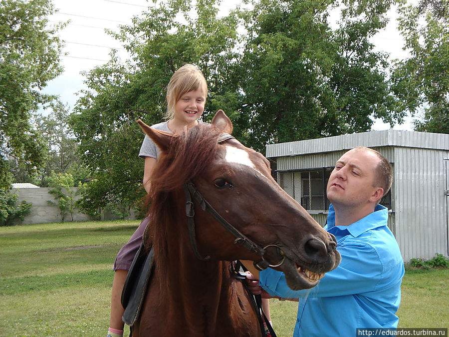
[[[277,172],[278,183],[282,189],[308,211],[327,211],[330,201],[326,188],[334,168],[323,167],[313,170]],[[391,190],[379,202],[392,209]]]

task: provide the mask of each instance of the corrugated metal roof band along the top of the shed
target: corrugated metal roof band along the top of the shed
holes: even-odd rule
[[[268,158],[349,150],[356,146],[416,147],[449,150],[449,134],[384,130],[352,133],[340,136],[300,140],[266,146]]]

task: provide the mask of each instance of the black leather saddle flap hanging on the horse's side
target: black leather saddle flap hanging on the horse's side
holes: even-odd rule
[[[142,244],[134,257],[131,268],[126,277],[123,286],[121,302],[125,312],[122,320],[128,326],[132,327],[139,318],[140,310],[145,298],[148,282],[153,268],[154,250],[146,253]]]

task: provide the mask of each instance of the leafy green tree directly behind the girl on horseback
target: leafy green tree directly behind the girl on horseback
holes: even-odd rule
[[[205,119],[224,108],[231,114],[238,105],[237,81],[229,80],[237,43],[235,14],[219,18],[216,1],[161,1],[133,25],[112,33],[125,44],[132,60],[111,60],[86,73],[88,90],[82,91],[70,118],[80,142],[83,162],[92,181],[83,189],[82,204],[90,213],[108,205],[118,210],[136,208],[143,197],[144,163],[138,158],[144,134],[135,122],[163,120],[166,86],[184,63],[195,63],[209,83]],[[192,12],[195,12],[192,15]],[[179,17],[182,20],[178,20]],[[84,208],[85,208],[84,207]]]

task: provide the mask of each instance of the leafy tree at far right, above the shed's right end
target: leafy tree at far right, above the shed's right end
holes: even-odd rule
[[[449,1],[403,3],[399,29],[411,56],[393,72],[400,104],[414,116],[415,130],[449,133]]]

